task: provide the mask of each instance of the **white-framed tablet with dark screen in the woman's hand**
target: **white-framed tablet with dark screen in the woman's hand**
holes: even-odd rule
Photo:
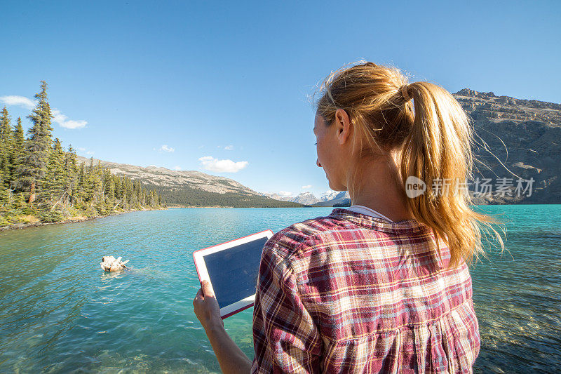
[[[193,253],[198,279],[210,281],[222,319],[253,306],[263,246],[271,236],[266,230]]]

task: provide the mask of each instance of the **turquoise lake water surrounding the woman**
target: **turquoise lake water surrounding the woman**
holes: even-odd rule
[[[506,222],[472,269],[478,373],[561,371],[561,205],[479,206]],[[0,372],[219,373],[193,312],[191,253],[332,208],[170,209],[0,233]],[[102,255],[130,259],[106,274]],[[252,308],[226,319],[253,357]]]

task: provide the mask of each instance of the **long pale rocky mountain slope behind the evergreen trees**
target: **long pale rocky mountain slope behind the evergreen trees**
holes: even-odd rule
[[[140,180],[147,188],[161,194],[168,206],[232,206],[282,207],[302,206],[290,201],[269,199],[249,187],[229,178],[208,175],[199,171],[174,171],[156,166],[129,165],[76,156],[76,161],[89,165],[90,160],[110,169],[116,175],[126,175]]]

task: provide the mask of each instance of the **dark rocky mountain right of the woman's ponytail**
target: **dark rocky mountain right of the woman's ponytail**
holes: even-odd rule
[[[476,197],[475,203],[561,203],[560,104],[469,88],[454,97],[473,119],[479,137],[473,148],[479,160],[475,162],[474,178],[491,178],[494,185],[494,196]],[[530,196],[529,192],[517,196],[513,191],[519,177],[534,178]],[[496,193],[499,178],[508,178],[504,181],[512,196]],[[528,187],[528,183],[522,187]]]

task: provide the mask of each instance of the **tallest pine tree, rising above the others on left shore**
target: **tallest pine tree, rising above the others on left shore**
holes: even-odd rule
[[[29,186],[29,203],[35,200],[36,190],[41,189],[40,182],[45,176],[48,156],[50,154],[50,107],[47,100],[47,84],[41,81],[41,92],[35,95],[37,106],[28,118],[33,126],[27,132],[25,142],[25,159],[20,170],[20,177],[27,189]]]

